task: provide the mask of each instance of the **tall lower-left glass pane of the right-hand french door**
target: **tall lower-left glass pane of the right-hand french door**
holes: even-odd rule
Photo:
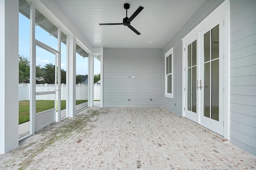
[[[204,116],[210,118],[210,62],[204,64]]]

